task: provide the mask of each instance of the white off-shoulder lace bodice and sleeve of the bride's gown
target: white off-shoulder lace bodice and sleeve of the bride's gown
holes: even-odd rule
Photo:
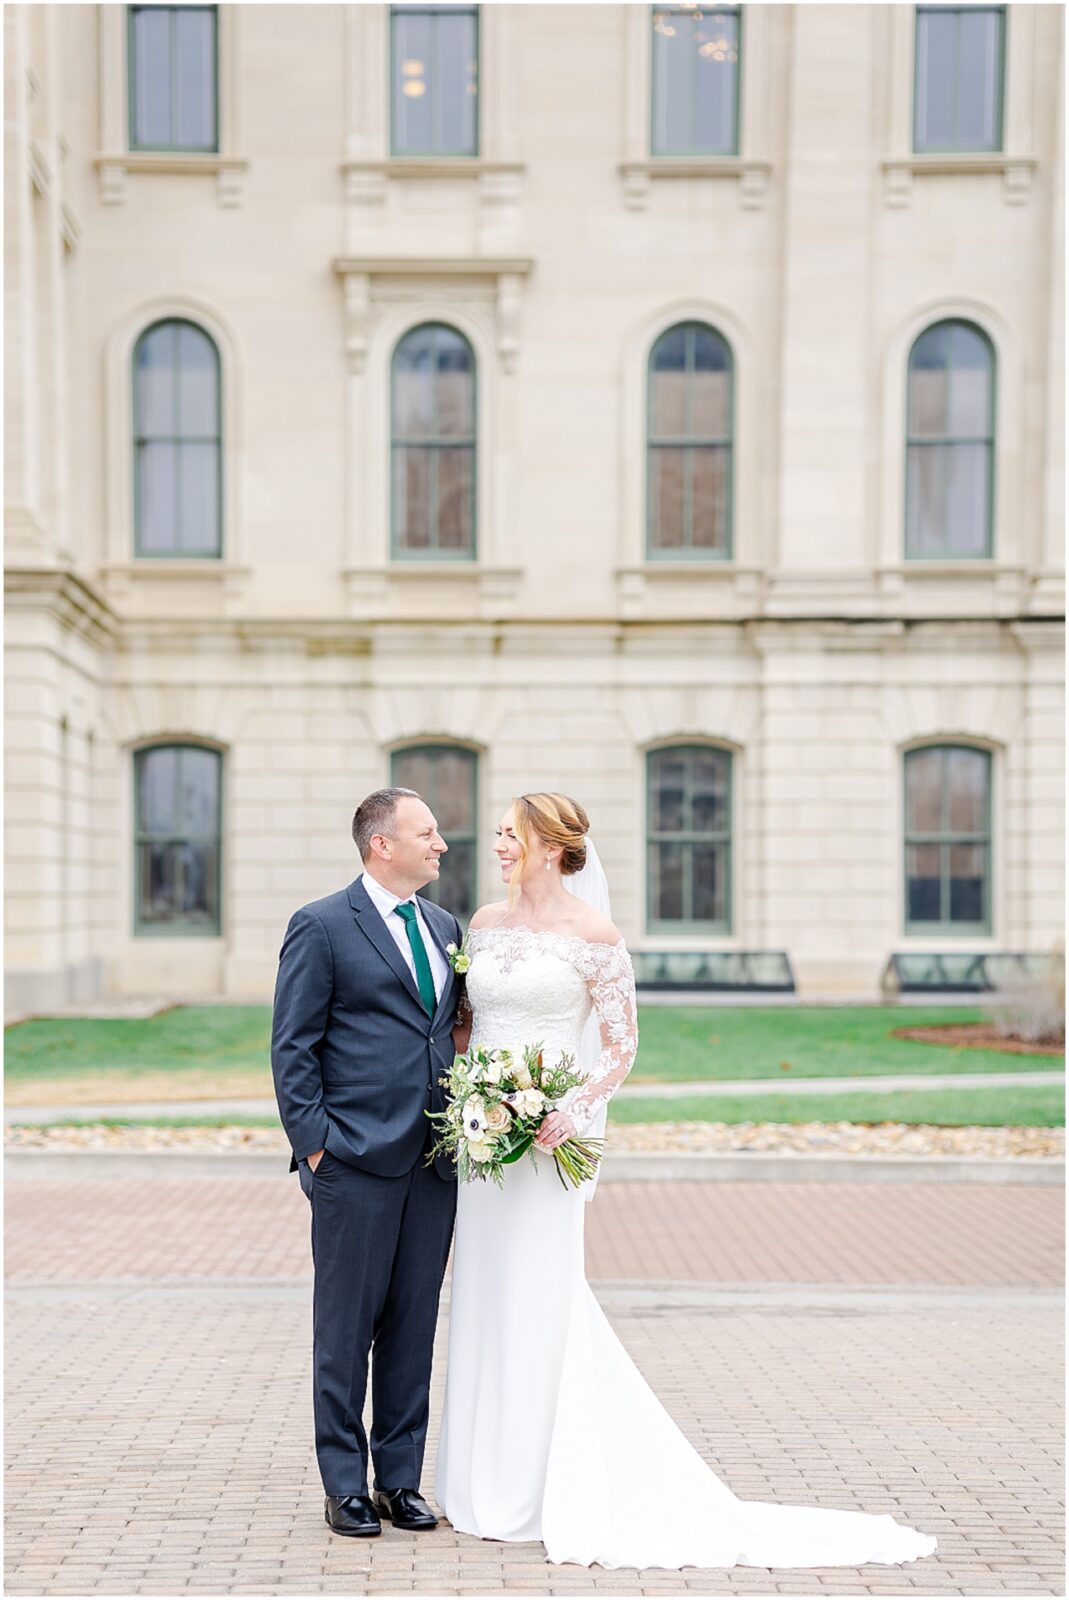
[[[563,1106],[578,1126],[587,1126],[631,1072],[639,1048],[635,974],[626,944],[592,944],[531,928],[477,928],[467,949],[474,1045],[518,1051],[541,1042],[578,1058],[594,1008],[602,1050],[587,1082]]]

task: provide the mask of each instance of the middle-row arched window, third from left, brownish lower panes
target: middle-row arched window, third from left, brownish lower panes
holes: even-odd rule
[[[727,339],[701,322],[663,333],[650,352],[650,558],[730,558],[731,413]]]

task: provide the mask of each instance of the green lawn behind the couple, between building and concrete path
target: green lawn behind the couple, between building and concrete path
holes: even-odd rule
[[[631,1082],[779,1078],[786,1085],[811,1077],[1063,1069],[1061,1056],[891,1037],[895,1027],[981,1018],[976,1006],[642,1006]],[[269,1006],[21,1022],[5,1034],[6,1102],[269,1096]]]

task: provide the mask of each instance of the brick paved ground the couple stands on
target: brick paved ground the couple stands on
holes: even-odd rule
[[[293,1186],[11,1182],[8,1594],[1061,1594],[1059,1219],[1043,1189],[605,1187],[600,1298],[731,1488],[939,1538],[904,1568],[605,1573],[330,1538]]]

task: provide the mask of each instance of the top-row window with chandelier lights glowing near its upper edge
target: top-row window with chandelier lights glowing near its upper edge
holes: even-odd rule
[[[653,8],[653,155],[738,155],[738,6]]]

